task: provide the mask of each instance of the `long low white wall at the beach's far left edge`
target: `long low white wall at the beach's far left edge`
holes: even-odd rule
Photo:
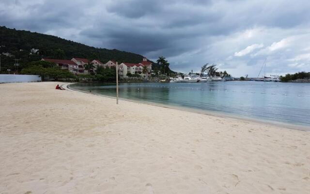
[[[0,74],[0,83],[9,82],[37,82],[41,81],[41,77],[37,75],[14,75]]]

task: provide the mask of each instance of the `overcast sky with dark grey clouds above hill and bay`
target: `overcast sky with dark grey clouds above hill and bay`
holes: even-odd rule
[[[164,56],[180,72],[310,71],[309,0],[0,0],[0,25]]]

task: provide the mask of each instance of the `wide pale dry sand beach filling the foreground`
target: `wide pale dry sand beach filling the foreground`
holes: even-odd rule
[[[0,84],[0,194],[310,194],[310,132]]]

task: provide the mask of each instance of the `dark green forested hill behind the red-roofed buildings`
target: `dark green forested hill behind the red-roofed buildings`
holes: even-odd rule
[[[30,54],[31,49],[39,49],[37,54]],[[1,54],[3,53],[3,54]],[[41,58],[72,59],[86,58],[99,59],[106,63],[115,60],[119,63],[140,63],[143,56],[117,49],[98,49],[63,38],[37,32],[9,29],[0,26],[0,54],[1,71],[15,70],[15,59],[20,59],[19,70],[26,67],[31,61]],[[9,56],[7,56],[9,55]],[[152,62],[155,66],[154,62]]]

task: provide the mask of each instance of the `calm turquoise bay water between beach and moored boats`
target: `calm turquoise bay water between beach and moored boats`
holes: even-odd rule
[[[77,83],[70,88],[116,96],[115,84]],[[121,83],[119,97],[310,127],[310,83]]]

